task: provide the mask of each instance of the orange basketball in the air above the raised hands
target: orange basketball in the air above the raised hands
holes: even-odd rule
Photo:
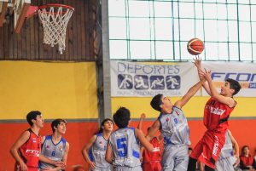
[[[204,43],[198,38],[192,38],[187,45],[189,54],[198,55],[204,50]]]

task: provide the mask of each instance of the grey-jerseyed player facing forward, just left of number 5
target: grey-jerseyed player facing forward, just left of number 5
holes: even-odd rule
[[[84,160],[89,164],[93,171],[110,171],[111,167],[105,161],[108,139],[113,130],[113,121],[109,118],[104,119],[98,134],[91,137],[87,145],[84,145],[82,154]],[[88,154],[89,151],[89,154]]]

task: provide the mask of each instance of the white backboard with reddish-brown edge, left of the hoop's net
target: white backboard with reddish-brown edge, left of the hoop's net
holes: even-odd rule
[[[30,7],[31,0],[14,0],[14,12],[15,12],[15,32],[19,33],[24,21],[26,20],[26,14]]]

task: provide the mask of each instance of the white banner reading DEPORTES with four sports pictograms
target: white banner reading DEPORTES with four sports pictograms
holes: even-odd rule
[[[182,96],[198,82],[193,63],[139,63],[111,61],[111,95]],[[197,94],[201,95],[201,94]]]

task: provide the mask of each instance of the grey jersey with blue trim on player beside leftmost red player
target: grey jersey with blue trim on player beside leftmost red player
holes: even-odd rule
[[[60,162],[65,154],[66,142],[67,141],[65,139],[61,138],[60,142],[54,144],[52,141],[52,136],[47,135],[41,148],[41,154],[44,155],[44,157],[48,157],[50,160]],[[39,162],[38,169],[41,170],[44,168],[55,168],[55,166],[48,163]]]

